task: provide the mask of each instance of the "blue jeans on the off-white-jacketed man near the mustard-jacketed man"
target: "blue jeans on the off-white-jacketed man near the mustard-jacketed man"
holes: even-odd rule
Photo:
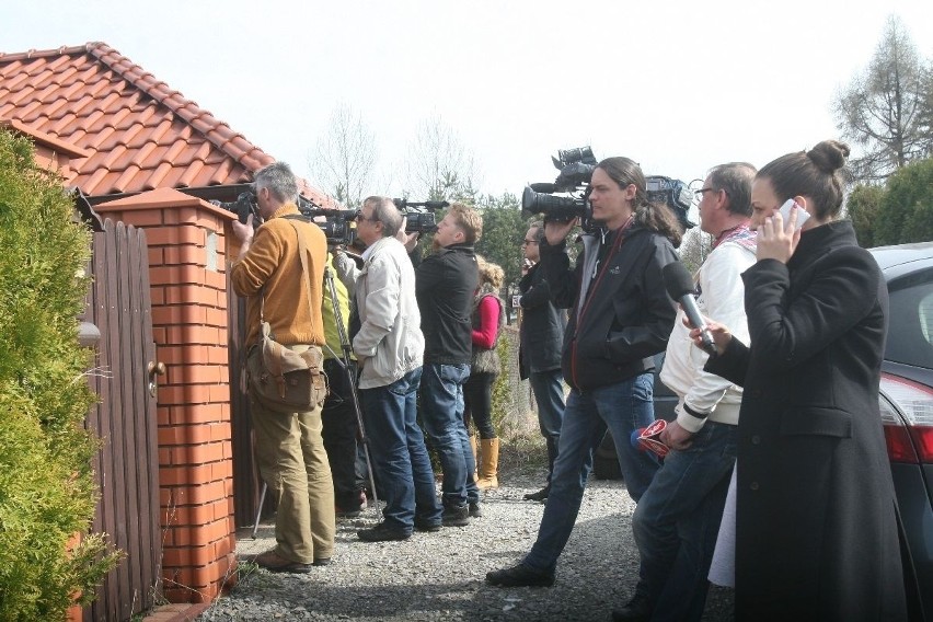
[[[370,456],[385,500],[382,516],[390,527],[407,533],[416,515],[419,520],[436,523],[440,523],[441,515],[434,470],[416,421],[421,377],[418,368],[392,384],[359,391]]]

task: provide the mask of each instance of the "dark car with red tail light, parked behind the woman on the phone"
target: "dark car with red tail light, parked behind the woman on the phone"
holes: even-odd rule
[[[933,620],[933,242],[871,252],[890,293],[879,402],[903,525],[911,620]],[[656,416],[672,418],[676,403],[656,378]],[[621,476],[609,434],[596,451],[594,474]]]

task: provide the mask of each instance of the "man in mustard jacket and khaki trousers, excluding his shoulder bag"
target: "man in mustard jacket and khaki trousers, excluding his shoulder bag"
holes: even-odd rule
[[[253,233],[233,221],[240,255],[230,270],[233,290],[247,297],[245,344],[256,343],[265,320],[274,338],[297,352],[321,349],[324,322],[322,286],[327,242],[323,231],[290,219],[298,211],[298,184],[288,164],[269,164],[255,175],[260,216],[265,222]],[[301,235],[307,247],[308,279],[299,256]],[[326,565],[334,552],[334,486],[321,438],[321,404],[304,413],[284,414],[251,395],[260,474],[276,495],[275,549],[255,563],[273,572],[308,573]]]

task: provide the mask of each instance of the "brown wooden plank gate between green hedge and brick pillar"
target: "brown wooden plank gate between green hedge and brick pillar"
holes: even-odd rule
[[[156,344],[146,233],[106,220],[94,233],[88,321],[101,331],[88,425],[103,440],[94,464],[101,498],[93,530],[126,558],[97,589],[84,620],[130,620],[161,588]]]

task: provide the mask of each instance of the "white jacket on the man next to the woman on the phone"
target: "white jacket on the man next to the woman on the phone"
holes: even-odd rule
[[[745,285],[741,273],[755,264],[755,251],[724,241],[716,246],[696,274],[700,312],[728,326],[729,332],[748,344],[745,316]],[[693,345],[690,329],[683,325],[683,310],[677,313],[673,332],[667,343],[661,382],[677,393],[677,423],[688,431],[699,431],[706,421],[738,424],[741,389],[713,373],[703,371],[709,355]],[[691,415],[690,410],[706,418]]]

